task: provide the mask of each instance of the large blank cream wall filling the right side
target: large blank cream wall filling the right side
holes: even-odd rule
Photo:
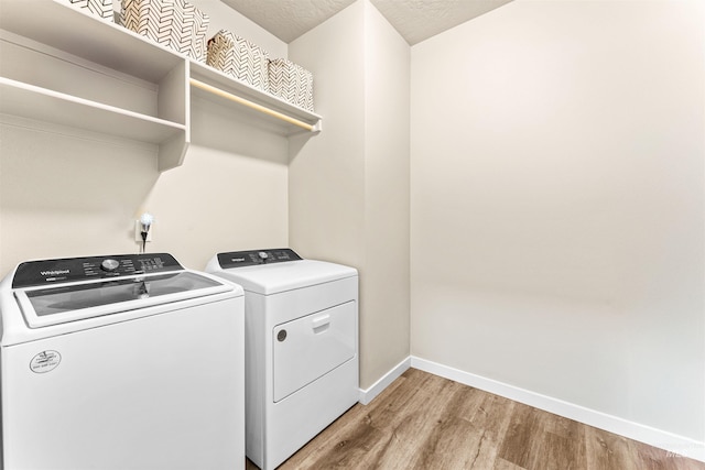
[[[516,0],[412,47],[412,353],[705,441],[698,1]]]

